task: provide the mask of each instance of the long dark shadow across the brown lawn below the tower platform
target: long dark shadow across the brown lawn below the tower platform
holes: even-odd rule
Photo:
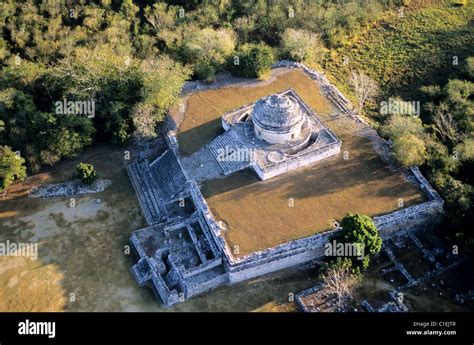
[[[423,200],[423,196],[414,197],[415,186],[405,181],[401,174],[392,172],[382,159],[373,151],[368,139],[354,137],[346,141],[343,151],[349,152],[349,159],[342,155],[300,171],[290,172],[267,181],[261,181],[256,174],[247,169],[225,179],[216,179],[205,183],[203,192],[207,198],[220,194],[222,201],[245,200],[250,195],[262,197],[284,197],[303,200],[340,193],[350,198],[351,188],[363,188],[364,198],[391,197],[406,199],[407,205]],[[394,204],[396,207],[396,204]]]

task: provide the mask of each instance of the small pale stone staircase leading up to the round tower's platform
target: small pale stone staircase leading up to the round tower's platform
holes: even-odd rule
[[[224,175],[230,175],[236,171],[250,166],[250,161],[239,160],[239,155],[231,157],[232,153],[234,153],[236,150],[242,150],[245,148],[245,146],[237,141],[232,135],[232,131],[227,131],[219,135],[208,144],[208,147],[209,151],[211,151],[217,163],[219,163],[220,167],[224,171]]]

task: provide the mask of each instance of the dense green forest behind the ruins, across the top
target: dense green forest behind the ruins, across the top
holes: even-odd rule
[[[447,234],[473,246],[473,18],[467,0],[5,0],[0,189],[23,166],[153,137],[186,80],[264,78],[292,59],[353,100],[351,72],[378,84],[360,111],[441,192]],[[392,97],[421,102],[420,116],[381,115]]]

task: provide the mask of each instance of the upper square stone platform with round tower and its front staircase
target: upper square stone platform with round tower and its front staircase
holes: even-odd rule
[[[292,89],[222,116],[209,149],[224,175],[252,168],[262,180],[337,155],[341,141]]]

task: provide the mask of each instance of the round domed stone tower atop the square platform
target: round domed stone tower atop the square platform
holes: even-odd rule
[[[255,135],[270,144],[298,140],[305,120],[299,104],[286,95],[259,99],[252,111]]]

